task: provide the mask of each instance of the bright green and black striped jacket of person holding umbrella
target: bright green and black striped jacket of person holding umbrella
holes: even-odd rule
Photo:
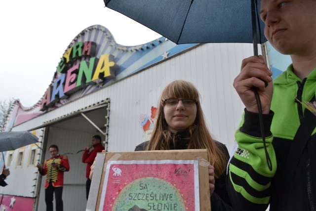
[[[227,188],[236,211],[316,211],[316,129],[300,156],[293,179],[283,175],[292,140],[316,93],[316,69],[303,81],[292,71],[274,80],[271,112],[264,116],[267,166],[258,114],[245,110],[235,134],[237,149],[228,166]],[[270,129],[271,128],[271,129]],[[285,187],[285,188],[284,188]]]

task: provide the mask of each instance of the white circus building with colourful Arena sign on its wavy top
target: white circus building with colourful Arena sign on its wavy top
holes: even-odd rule
[[[241,60],[252,55],[252,44],[177,45],[161,37],[124,46],[107,28],[93,25],[62,50],[41,99],[29,108],[15,100],[11,107],[5,130],[31,131],[39,142],[0,156],[0,168],[5,164],[10,169],[8,185],[0,189],[1,211],[46,209],[45,177],[36,165],[50,157],[51,144],[70,164],[64,175],[64,210],[85,210],[86,164],[81,157],[91,137],[100,135],[109,152],[134,151],[150,138],[159,94],[174,80],[197,86],[209,130],[232,149],[243,111],[232,84]],[[269,58],[267,52],[263,48]]]

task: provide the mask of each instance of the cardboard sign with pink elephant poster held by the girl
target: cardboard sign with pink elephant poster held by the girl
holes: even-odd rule
[[[206,150],[98,153],[87,211],[210,211]]]

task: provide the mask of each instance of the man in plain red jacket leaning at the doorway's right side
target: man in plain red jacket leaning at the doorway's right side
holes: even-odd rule
[[[94,161],[95,157],[97,156],[97,153],[102,152],[102,150],[104,150],[104,147],[102,146],[101,141],[102,140],[101,140],[100,135],[94,135],[92,137],[91,144],[89,144],[85,148],[83,155],[82,155],[82,162],[87,164],[87,168],[85,171],[85,177],[87,178],[87,181],[85,183],[87,200],[88,200],[90,185],[91,185],[91,180],[89,179],[91,165],[93,164],[93,161]],[[90,151],[90,149],[92,149],[92,150]]]

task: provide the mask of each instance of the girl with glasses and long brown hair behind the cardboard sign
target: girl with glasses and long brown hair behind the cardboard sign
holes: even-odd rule
[[[206,127],[197,88],[183,80],[168,84],[158,100],[157,115],[150,141],[135,151],[207,149],[212,211],[232,210],[225,184],[229,153]]]

